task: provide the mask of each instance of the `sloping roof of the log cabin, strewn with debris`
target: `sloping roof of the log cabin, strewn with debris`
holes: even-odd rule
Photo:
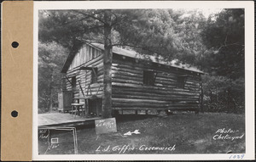
[[[90,42],[90,43],[88,43],[88,45],[90,45],[91,47],[96,47],[98,49],[104,50],[104,45],[102,43]],[[175,60],[175,59],[172,61],[163,61],[163,59],[161,59],[160,57],[155,57],[155,56],[150,56],[150,55],[146,56],[146,55],[137,53],[136,51],[133,51],[130,49],[128,50],[125,48],[115,47],[115,46],[113,47],[112,51],[113,51],[113,53],[123,55],[125,57],[130,57],[130,58],[134,58],[134,59],[144,59],[144,60],[148,60],[153,63],[165,64],[165,65],[172,66],[175,68],[179,68],[179,69],[183,69],[183,70],[190,70],[190,71],[194,71],[194,72],[203,74],[203,72],[201,70],[198,70],[197,68],[190,66],[189,64],[177,64],[177,60]],[[71,61],[72,61],[74,55],[75,55],[75,53],[69,54],[65,64],[62,67],[61,73],[67,71],[68,66],[69,66],[69,64],[71,64]]]

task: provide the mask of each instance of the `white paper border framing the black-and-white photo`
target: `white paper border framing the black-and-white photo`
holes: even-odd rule
[[[232,154],[79,154],[38,155],[38,10],[93,8],[245,8],[246,153],[254,159],[254,2],[253,1],[73,1],[34,2],[32,160],[229,160]],[[233,154],[236,155],[236,154]]]

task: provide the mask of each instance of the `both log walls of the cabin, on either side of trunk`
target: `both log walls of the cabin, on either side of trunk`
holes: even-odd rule
[[[87,52],[89,54],[86,54]],[[90,84],[90,70],[79,70],[82,66],[97,67],[97,83],[90,84],[93,95],[102,94],[103,61],[102,51],[90,54],[92,49],[82,49],[79,52],[81,60],[76,58],[67,70],[67,77],[76,76],[76,90],[74,97],[83,97],[79,81],[86,95]],[[90,59],[83,58],[89,55]],[[86,62],[80,64],[82,62]],[[157,75],[154,86],[143,85],[143,70],[154,70]],[[177,76],[188,75],[184,88],[177,88]],[[149,63],[148,61],[135,60],[113,53],[112,64],[113,109],[198,109],[201,93],[201,75],[189,70],[177,69],[172,66]],[[86,85],[86,87],[85,87]],[[67,81],[67,90],[72,90],[72,85]],[[90,93],[89,93],[90,94]]]

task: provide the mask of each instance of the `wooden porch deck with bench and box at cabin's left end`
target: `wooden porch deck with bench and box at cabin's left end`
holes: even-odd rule
[[[101,119],[102,95],[73,98],[72,91],[58,94],[58,111],[38,115],[38,126],[81,126]]]

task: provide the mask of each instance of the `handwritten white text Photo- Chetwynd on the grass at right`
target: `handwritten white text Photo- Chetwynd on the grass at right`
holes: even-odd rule
[[[240,133],[238,130],[232,130],[232,129],[218,129],[215,132],[215,135],[212,137],[213,140],[236,140],[241,139],[244,137],[244,133]]]

